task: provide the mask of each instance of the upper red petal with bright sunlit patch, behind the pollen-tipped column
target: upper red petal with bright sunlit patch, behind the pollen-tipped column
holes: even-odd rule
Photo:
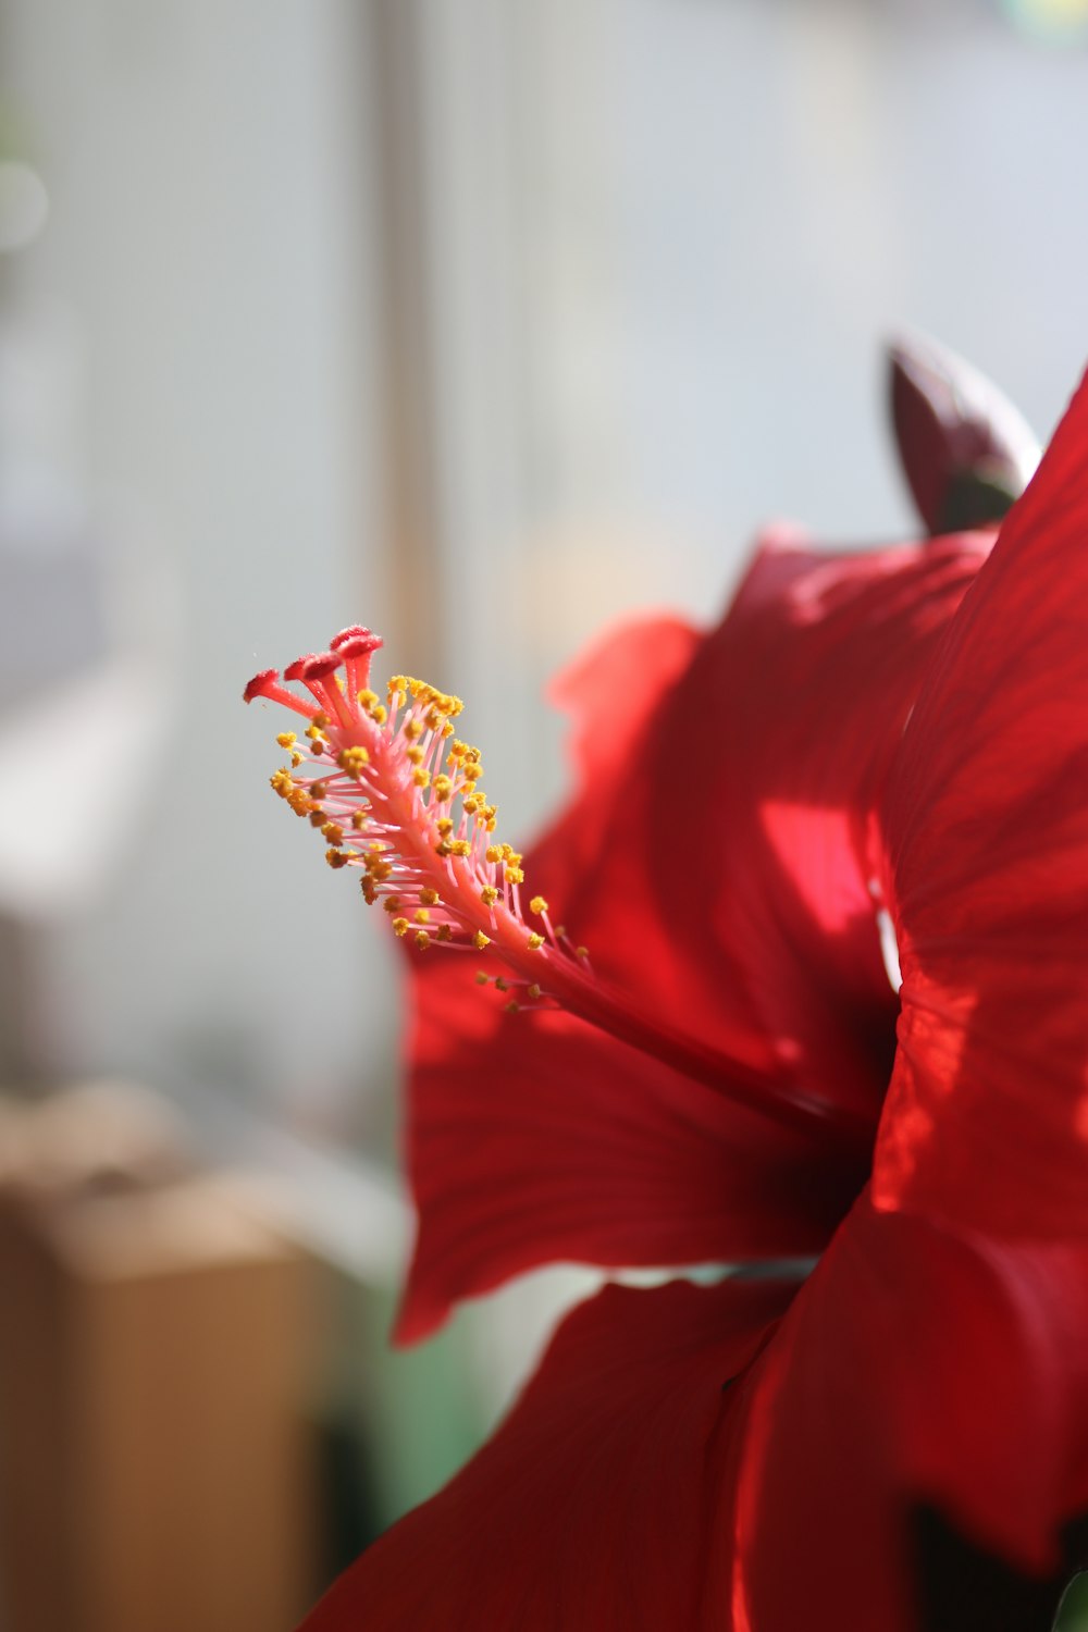
[[[858,813],[987,548],[768,547],[701,640],[633,627],[561,682],[582,785],[527,876],[723,1074],[736,1059],[876,1118],[896,1004]]]

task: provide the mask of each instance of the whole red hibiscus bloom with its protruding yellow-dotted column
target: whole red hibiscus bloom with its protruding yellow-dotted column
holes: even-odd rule
[[[576,1309],[312,1632],[1049,1627],[1088,1513],[1085,387],[988,545],[772,543],[716,630],[613,638],[527,862],[369,632],[287,671],[313,702],[246,689],[310,720],[274,787],[419,947],[403,1337],[553,1258],[820,1253]]]

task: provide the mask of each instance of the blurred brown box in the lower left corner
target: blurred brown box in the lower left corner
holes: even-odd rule
[[[315,1580],[307,1262],[161,1129],[103,1164],[88,1123],[80,1172],[80,1115],[60,1162],[26,1116],[0,1120],[0,1624],[287,1632]]]

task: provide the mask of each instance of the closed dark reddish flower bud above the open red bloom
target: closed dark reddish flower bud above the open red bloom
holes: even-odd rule
[[[887,359],[899,460],[927,530],[1000,522],[1039,463],[1039,444],[1019,411],[936,341],[896,341]]]

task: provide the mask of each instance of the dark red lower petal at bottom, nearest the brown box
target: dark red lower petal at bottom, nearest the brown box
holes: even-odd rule
[[[724,1386],[788,1296],[605,1288],[491,1443],[341,1577],[305,1632],[719,1632],[705,1588],[737,1412]]]

